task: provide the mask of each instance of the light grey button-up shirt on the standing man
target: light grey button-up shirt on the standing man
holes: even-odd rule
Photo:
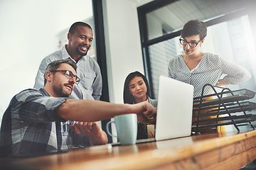
[[[55,60],[73,60],[72,57],[68,54],[66,46],[63,46],[61,50],[53,52],[53,54],[45,57],[38,69],[36,75],[36,81],[34,88],[40,89],[44,85],[44,73],[46,72],[46,67],[50,62]],[[73,60],[75,62],[75,60]],[[70,98],[75,99],[87,99],[87,100],[100,100],[102,95],[102,75],[100,72],[100,66],[95,60],[89,56],[82,56],[78,62],[75,62],[78,66],[76,73],[80,78],[80,83],[75,84]]]

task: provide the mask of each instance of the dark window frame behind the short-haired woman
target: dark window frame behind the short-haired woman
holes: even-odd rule
[[[141,43],[142,43],[142,57],[144,62],[144,72],[145,72],[146,79],[148,79],[149,81],[149,86],[151,87],[149,91],[151,98],[156,98],[156,96],[154,96],[154,85],[152,81],[151,63],[149,58],[149,46],[159,42],[164,42],[172,38],[176,38],[177,36],[181,35],[181,30],[177,30],[176,32],[173,32],[173,33],[167,33],[166,35],[162,35],[158,38],[153,38],[151,40],[148,40],[146,13],[155,11],[156,9],[167,6],[169,4],[173,4],[176,1],[178,0],[156,0],[156,1],[151,1],[150,3],[145,4],[143,6],[139,6],[137,8],[138,18],[139,18],[139,31],[140,31]],[[251,6],[247,6],[247,8],[241,9],[240,11],[228,13],[223,16],[219,16],[217,18],[213,18],[209,21],[206,21],[206,24],[207,26],[213,26],[218,23],[223,23],[223,22],[230,21],[235,18],[239,18],[241,16],[247,15],[250,20],[251,29],[256,30],[256,10],[255,8],[253,8],[256,6],[256,3],[255,4],[253,3],[254,2],[252,1]],[[255,48],[256,48],[256,33],[255,31],[252,31],[252,33],[253,33],[253,39],[255,41]]]

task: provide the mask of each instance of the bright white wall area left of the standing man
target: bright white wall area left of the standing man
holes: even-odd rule
[[[90,16],[91,0],[0,0],[0,125],[11,98],[33,87],[43,57],[58,50],[58,33]]]

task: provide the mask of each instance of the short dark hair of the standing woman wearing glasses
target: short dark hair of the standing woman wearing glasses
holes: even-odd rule
[[[206,23],[198,20],[188,21],[181,30],[181,37],[186,38],[192,35],[200,35],[200,40],[203,40],[207,35]]]

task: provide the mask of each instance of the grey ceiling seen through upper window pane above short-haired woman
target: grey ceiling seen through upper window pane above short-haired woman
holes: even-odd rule
[[[206,21],[238,11],[251,4],[255,5],[255,2],[252,1],[255,0],[180,0],[147,13],[146,17],[154,17],[155,20],[162,23],[167,32],[172,32],[181,30],[184,23],[193,19]]]

